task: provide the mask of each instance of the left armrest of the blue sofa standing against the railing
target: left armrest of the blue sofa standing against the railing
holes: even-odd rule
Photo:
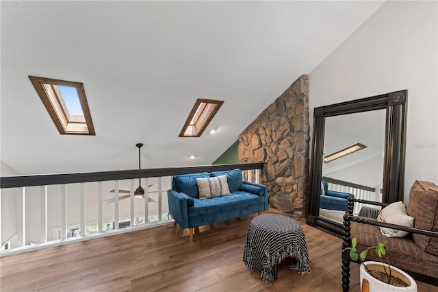
[[[185,193],[168,190],[167,200],[170,216],[177,221],[181,228],[189,228],[188,208],[193,206],[193,198],[185,195]]]

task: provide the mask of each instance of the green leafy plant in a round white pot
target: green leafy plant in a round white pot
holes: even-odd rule
[[[389,263],[384,263],[383,257],[386,254],[385,242],[378,242],[375,246],[365,248],[360,254],[356,249],[357,239],[351,239],[351,247],[346,247],[342,250],[350,250],[351,260],[361,263],[361,289],[363,279],[368,281],[369,291],[417,291],[417,283],[411,276],[404,271],[392,267]],[[372,250],[381,262],[367,261],[365,258],[368,252]]]

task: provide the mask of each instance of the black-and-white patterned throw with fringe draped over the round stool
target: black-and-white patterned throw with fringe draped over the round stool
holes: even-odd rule
[[[257,267],[267,284],[274,280],[274,266],[287,257],[295,257],[290,269],[301,275],[310,273],[305,234],[300,224],[289,217],[265,214],[255,217],[248,227],[243,260],[246,267]]]

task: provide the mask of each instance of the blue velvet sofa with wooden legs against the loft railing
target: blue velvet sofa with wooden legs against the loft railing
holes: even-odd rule
[[[230,195],[199,198],[196,178],[226,175]],[[169,213],[182,228],[189,228],[190,242],[194,228],[268,210],[268,187],[244,182],[242,171],[214,171],[175,175],[168,190]]]

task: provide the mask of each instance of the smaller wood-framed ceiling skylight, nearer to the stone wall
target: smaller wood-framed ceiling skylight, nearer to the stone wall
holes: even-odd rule
[[[199,137],[213,119],[224,101],[213,99],[197,99],[192,111],[185,121],[180,137]]]

